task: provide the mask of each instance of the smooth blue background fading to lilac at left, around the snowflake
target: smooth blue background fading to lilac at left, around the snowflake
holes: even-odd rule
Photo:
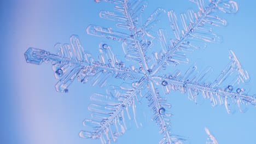
[[[202,51],[189,57],[193,63],[203,61],[211,65],[213,77],[229,62],[232,49],[241,64],[251,75],[251,94],[256,93],[255,1],[237,0],[236,15],[220,15],[228,27],[214,28],[223,35],[222,44],[208,44]],[[55,91],[54,71],[50,64],[34,65],[25,61],[28,47],[55,52],[57,42],[69,43],[72,34],[79,35],[84,49],[98,52],[102,39],[85,33],[89,24],[112,26],[100,19],[102,9],[113,5],[94,1],[10,0],[1,1],[1,131],[0,143],[100,143],[99,140],[82,139],[79,131],[82,122],[90,117],[87,110],[89,96],[102,89],[74,82],[69,93]],[[189,1],[149,1],[145,15],[162,7],[176,13],[193,7]],[[118,45],[118,44],[117,44]],[[184,66],[188,68],[189,65]],[[206,100],[201,106],[188,100],[187,95],[171,93],[174,114],[173,134],[188,136],[191,143],[205,143],[209,128],[219,143],[255,143],[256,109],[229,115],[224,106],[212,107]],[[141,129],[133,128],[119,137],[118,143],[158,143],[161,135],[154,122]]]

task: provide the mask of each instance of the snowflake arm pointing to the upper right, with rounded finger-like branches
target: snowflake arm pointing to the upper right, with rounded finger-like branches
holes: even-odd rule
[[[162,41],[164,43],[162,49],[167,49],[167,52],[160,52],[153,55],[153,59],[158,59],[154,64],[152,74],[158,72],[165,65],[177,65],[179,63],[188,63],[188,58],[185,52],[191,52],[194,49],[203,49],[206,42],[220,43],[222,37],[212,34],[212,26],[225,26],[226,21],[216,16],[217,11],[234,14],[237,11],[237,4],[233,1],[211,1],[207,6],[203,0],[193,1],[199,11],[195,13],[193,10],[188,10],[188,14],[181,14],[182,28],[179,27],[177,16],[174,11],[168,11],[168,18],[171,23],[171,28],[175,36],[170,41]],[[166,35],[160,35],[166,37]],[[199,43],[200,42],[200,43]]]

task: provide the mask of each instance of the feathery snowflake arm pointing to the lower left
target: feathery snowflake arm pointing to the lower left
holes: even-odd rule
[[[144,96],[141,95],[141,91],[145,84],[146,80],[141,79],[132,84],[123,83],[120,87],[110,86],[107,88],[108,95],[98,93],[91,95],[93,103],[88,109],[92,111],[91,117],[94,119],[85,119],[84,126],[92,128],[92,131],[81,131],[80,136],[110,143],[125,133],[131,120],[135,121],[137,127],[141,127],[139,121],[142,119],[136,119],[138,111],[136,107]]]

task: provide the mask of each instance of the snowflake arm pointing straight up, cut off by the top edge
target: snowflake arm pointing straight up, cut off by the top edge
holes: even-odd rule
[[[105,2],[116,3],[117,1]],[[100,16],[104,19],[117,21],[117,27],[128,29],[129,34],[113,31],[112,28],[93,25],[90,25],[86,32],[98,37],[123,41],[126,60],[138,62],[144,73],[150,73],[151,70],[148,66],[150,58],[146,56],[146,52],[153,47],[152,43],[155,39],[155,36],[150,34],[150,29],[160,21],[159,17],[165,11],[160,8],[156,9],[144,25],[141,25],[141,13],[147,7],[146,1],[118,1],[116,4],[115,12],[103,10],[100,12]]]

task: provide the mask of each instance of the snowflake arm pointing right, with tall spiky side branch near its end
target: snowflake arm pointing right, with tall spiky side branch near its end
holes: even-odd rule
[[[188,93],[188,98],[201,103],[202,98],[210,99],[212,106],[225,104],[228,113],[234,113],[234,104],[237,104],[240,112],[245,112],[249,104],[256,105],[255,95],[248,95],[249,88],[246,82],[249,75],[243,70],[234,52],[230,50],[231,62],[224,68],[222,73],[213,82],[205,82],[211,74],[212,69],[207,68],[200,75],[196,73],[196,65],[192,65],[184,75],[176,70],[173,74],[167,75],[164,79],[153,76],[158,81],[164,92],[180,91]],[[248,89],[247,89],[248,88]]]

